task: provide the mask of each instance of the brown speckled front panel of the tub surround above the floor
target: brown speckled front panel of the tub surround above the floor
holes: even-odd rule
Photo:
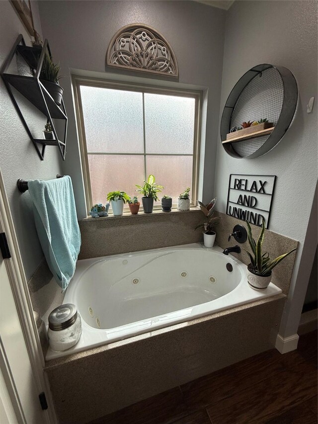
[[[273,347],[285,295],[47,361],[60,424],[82,424]]]

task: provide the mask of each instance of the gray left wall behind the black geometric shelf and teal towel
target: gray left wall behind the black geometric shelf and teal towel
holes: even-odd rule
[[[37,1],[32,1],[36,30],[41,33]],[[22,33],[27,45],[30,36],[9,1],[0,1],[0,66],[10,52],[17,36]],[[44,115],[20,96],[21,106],[32,130],[42,137],[46,122]],[[0,169],[10,202],[15,231],[29,278],[43,258],[33,220],[32,203],[28,193],[21,194],[16,188],[18,178],[51,179],[62,172],[57,148],[47,147],[41,161],[31,140],[15,111],[2,79],[0,79]]]

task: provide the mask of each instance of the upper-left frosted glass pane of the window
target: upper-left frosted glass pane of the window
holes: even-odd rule
[[[87,152],[143,153],[143,94],[80,86]]]

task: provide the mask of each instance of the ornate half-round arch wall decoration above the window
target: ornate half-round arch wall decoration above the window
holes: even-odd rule
[[[107,65],[135,71],[178,77],[178,65],[167,40],[156,29],[142,23],[124,26],[111,39]]]

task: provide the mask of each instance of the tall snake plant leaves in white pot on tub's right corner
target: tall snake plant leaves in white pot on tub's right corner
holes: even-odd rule
[[[252,253],[248,252],[246,249],[244,251],[248,254],[250,259],[250,264],[247,266],[248,270],[255,275],[259,276],[269,276],[272,273],[272,269],[279,264],[286,256],[296,251],[297,248],[292,249],[290,252],[282,254],[276,259],[271,260],[268,252],[262,252],[262,245],[264,242],[264,233],[265,233],[265,222],[262,221],[262,229],[258,237],[257,242],[253,239],[252,230],[248,221],[245,221],[247,225],[247,239]]]

